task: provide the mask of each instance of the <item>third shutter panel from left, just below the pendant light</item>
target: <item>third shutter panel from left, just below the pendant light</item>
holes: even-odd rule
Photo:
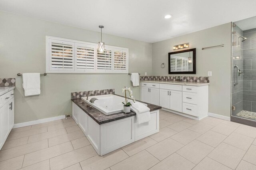
[[[112,51],[105,49],[104,52],[97,51],[97,69],[99,71],[112,69]]]

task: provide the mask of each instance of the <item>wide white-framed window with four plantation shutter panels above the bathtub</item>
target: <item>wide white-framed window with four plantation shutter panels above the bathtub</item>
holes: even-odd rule
[[[128,49],[46,36],[46,73],[128,73]]]

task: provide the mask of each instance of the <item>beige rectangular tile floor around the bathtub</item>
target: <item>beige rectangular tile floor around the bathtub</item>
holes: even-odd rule
[[[98,156],[72,118],[11,131],[0,170],[256,170],[256,128],[160,111],[160,132]]]

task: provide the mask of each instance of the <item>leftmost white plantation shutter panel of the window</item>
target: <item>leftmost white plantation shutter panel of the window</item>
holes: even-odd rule
[[[74,70],[74,43],[51,40],[49,48],[50,70]]]

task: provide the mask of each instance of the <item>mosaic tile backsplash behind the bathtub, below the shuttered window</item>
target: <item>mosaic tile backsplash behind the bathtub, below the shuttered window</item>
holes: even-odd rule
[[[72,92],[71,99],[86,97],[88,93],[89,93],[89,96],[109,95],[109,94],[115,94],[115,89]]]

